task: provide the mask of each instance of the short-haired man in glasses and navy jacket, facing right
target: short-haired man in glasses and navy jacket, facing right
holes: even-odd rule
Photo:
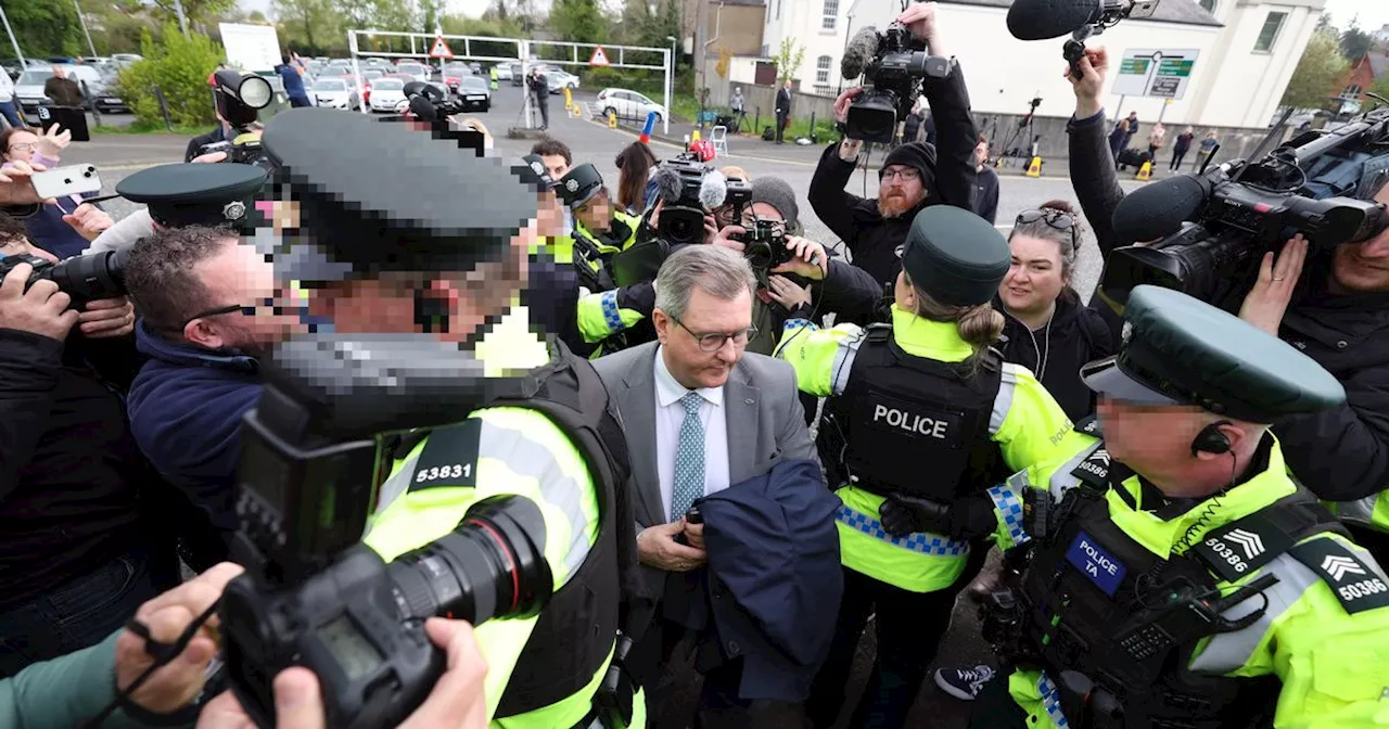
[[[207,519],[185,529],[207,535],[185,543],[192,567],[206,568],[226,558],[238,526],[240,424],[260,400],[257,358],[299,319],[274,314],[274,268],[235,231],[161,229],[135,244],[125,271],[142,314],[136,346],[150,358],[131,385],[131,430]]]

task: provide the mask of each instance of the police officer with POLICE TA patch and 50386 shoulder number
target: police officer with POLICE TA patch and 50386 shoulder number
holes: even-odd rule
[[[999,546],[1031,560],[989,601],[1004,668],[972,725],[1378,725],[1383,569],[1265,425],[1340,405],[1342,386],[1181,293],[1139,286],[1125,315],[1118,355],[1082,374],[1088,435],[988,492]]]

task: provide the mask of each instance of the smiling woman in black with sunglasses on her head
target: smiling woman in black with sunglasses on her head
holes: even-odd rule
[[[1099,311],[1071,287],[1081,247],[1081,217],[1064,200],[1024,210],[1013,224],[1013,261],[996,299],[1004,314],[1003,358],[1032,371],[1072,421],[1095,412],[1081,365],[1114,354]]]

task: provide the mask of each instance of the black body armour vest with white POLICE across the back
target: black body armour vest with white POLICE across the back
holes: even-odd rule
[[[1003,455],[989,437],[989,417],[1001,386],[999,353],[939,362],[907,354],[892,326],[871,325],[840,397],[825,403],[833,432],[824,461],[845,471],[839,482],[888,496],[947,501],[1001,475]],[[842,442],[832,443],[833,435]]]

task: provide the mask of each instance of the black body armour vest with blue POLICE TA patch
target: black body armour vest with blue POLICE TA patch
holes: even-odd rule
[[[1275,676],[1192,673],[1186,667],[1199,639],[1172,644],[1171,633],[1163,629],[1157,615],[1171,594],[1170,586],[1214,589],[1217,575],[1232,580],[1267,565],[1289,551],[1295,542],[1339,529],[1335,519],[1310,494],[1299,490],[1204,536],[1197,532],[1204,522],[1197,522],[1185,539],[1203,542],[1182,555],[1164,560],[1110,519],[1104,498],[1111,478],[1108,461],[1101,446],[1072,471],[1081,485],[1050,510],[1051,521],[1060,523],[1046,529],[1028,523],[1028,533],[1049,536],[1033,540],[1032,561],[1022,575],[1022,603],[1028,611],[1025,644],[1035,653],[1018,658],[1046,669],[1072,725],[1095,729],[1271,726],[1279,692]],[[1114,475],[1113,487],[1121,489],[1118,483],[1132,472],[1122,465],[1115,469],[1124,474]],[[1210,504],[1196,508],[1210,508]],[[1264,551],[1256,558],[1236,554],[1231,561],[1229,546],[1238,551],[1245,544],[1238,539],[1245,537],[1236,535],[1236,540],[1226,540],[1224,536],[1238,529],[1260,535]],[[1257,603],[1260,598],[1253,596],[1250,600]],[[1186,608],[1178,612],[1185,614]],[[1117,700],[1121,715],[1104,714],[1093,701],[1095,694],[1079,693],[1063,680],[1063,672],[1082,673],[1107,692]]]

